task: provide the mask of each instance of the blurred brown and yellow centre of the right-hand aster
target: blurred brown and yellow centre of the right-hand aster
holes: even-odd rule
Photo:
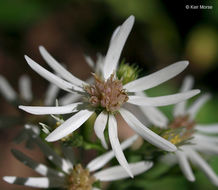
[[[194,133],[195,122],[188,115],[176,117],[169,125],[170,130],[163,137],[175,145],[187,141]]]

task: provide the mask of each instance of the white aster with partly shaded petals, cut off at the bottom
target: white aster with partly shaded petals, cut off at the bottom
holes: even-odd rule
[[[32,126],[28,126],[31,130]],[[30,135],[31,135],[31,131]],[[128,173],[121,166],[113,166],[102,169],[113,157],[114,152],[108,151],[103,155],[90,161],[85,168],[81,164],[74,165],[74,155],[72,148],[62,147],[64,158],[57,155],[47,144],[34,133],[32,133],[35,143],[43,151],[57,169],[50,168],[38,163],[18,150],[12,150],[13,155],[26,166],[32,168],[43,177],[15,177],[5,176],[3,179],[11,184],[24,185],[35,188],[63,188],[69,190],[99,190],[93,186],[97,181],[108,182],[128,178]],[[122,149],[130,147],[137,139],[137,135],[130,137],[121,143]],[[131,163],[130,168],[134,175],[144,173],[152,167],[152,162]]]

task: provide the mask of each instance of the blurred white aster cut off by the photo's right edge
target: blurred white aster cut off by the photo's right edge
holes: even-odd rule
[[[186,77],[180,91],[190,90],[193,86],[193,81],[191,76]],[[218,134],[218,123],[202,125],[195,121],[196,114],[209,99],[209,94],[203,94],[188,108],[186,108],[186,101],[176,104],[172,122],[169,122],[167,117],[156,108],[147,110],[144,108],[143,110],[150,122],[155,126],[174,130],[181,129],[175,135],[173,135],[173,132],[171,135],[165,135],[172,143],[180,144],[187,141],[187,143],[179,147],[175,154],[169,153],[163,160],[170,160],[172,164],[179,164],[185,177],[189,181],[195,181],[195,176],[189,163],[191,161],[193,165],[196,165],[206,174],[214,185],[218,186],[218,176],[200,155],[200,153],[218,154],[218,137],[214,136]],[[168,161],[167,163],[170,163]]]

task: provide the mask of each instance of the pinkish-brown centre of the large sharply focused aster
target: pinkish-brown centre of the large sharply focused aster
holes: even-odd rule
[[[128,95],[123,89],[121,80],[112,74],[107,81],[102,81],[97,75],[95,84],[85,87],[88,93],[88,101],[93,107],[106,109],[108,112],[119,110],[121,105],[128,100]]]

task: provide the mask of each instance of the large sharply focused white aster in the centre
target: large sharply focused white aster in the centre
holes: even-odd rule
[[[20,106],[20,109],[36,115],[75,113],[48,135],[46,140],[49,142],[57,141],[74,132],[87,121],[94,112],[97,113],[98,116],[94,124],[97,137],[101,140],[102,145],[107,148],[104,130],[106,125],[108,125],[109,140],[115,152],[115,156],[130,176],[133,175],[118,139],[116,114],[120,113],[128,125],[151,144],[166,151],[175,151],[176,147],[144,126],[134,114],[124,108],[123,105],[129,103],[139,106],[165,106],[181,102],[199,93],[199,90],[192,90],[152,98],[135,95],[135,92],[147,90],[173,78],[187,67],[187,61],[177,62],[158,72],[139,78],[123,86],[122,81],[116,77],[116,69],[121,51],[132,29],[133,23],[134,17],[130,16],[114,32],[107,54],[103,59],[104,62],[101,71],[103,76],[101,78],[95,74],[95,83],[93,85],[89,85],[87,82],[76,78],[68,72],[43,47],[39,48],[42,57],[60,77],[44,69],[28,56],[25,56],[29,66],[39,75],[67,92],[80,94],[86,101],[83,100],[81,102],[58,107]]]

